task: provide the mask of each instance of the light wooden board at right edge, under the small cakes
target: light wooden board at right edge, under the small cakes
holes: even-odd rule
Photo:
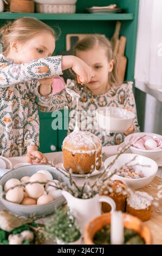
[[[157,200],[159,206],[153,206],[151,219],[144,223],[151,231],[153,244],[162,245],[162,179],[156,176],[150,185],[141,188],[139,191],[149,193],[154,199],[158,198],[158,193],[161,194],[161,198]],[[161,212],[158,212],[158,210],[161,210]]]

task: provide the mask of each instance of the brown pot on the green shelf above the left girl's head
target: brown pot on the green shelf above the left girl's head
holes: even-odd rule
[[[11,0],[10,11],[12,13],[34,13],[34,1],[32,0]]]

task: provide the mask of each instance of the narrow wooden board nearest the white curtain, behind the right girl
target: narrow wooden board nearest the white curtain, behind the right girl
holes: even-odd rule
[[[117,58],[117,76],[119,83],[124,82],[126,66],[127,66],[127,58],[124,56],[125,47],[126,47],[126,36],[121,36],[119,41],[119,49],[116,55]]]

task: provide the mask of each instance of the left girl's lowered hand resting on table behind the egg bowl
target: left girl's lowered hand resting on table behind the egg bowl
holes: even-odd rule
[[[34,159],[34,157],[37,157],[38,159]],[[28,163],[40,163],[40,164],[46,164],[48,162],[48,159],[46,156],[44,156],[40,151],[37,150],[37,147],[35,145],[31,145],[27,147],[27,159]]]

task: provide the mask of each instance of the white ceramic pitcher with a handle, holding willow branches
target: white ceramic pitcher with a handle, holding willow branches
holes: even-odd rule
[[[76,222],[81,228],[81,233],[83,233],[90,220],[101,215],[101,202],[111,205],[111,212],[116,209],[114,200],[108,196],[96,194],[93,198],[82,199],[73,197],[67,191],[62,191],[62,194],[66,198],[68,207],[73,212]]]

